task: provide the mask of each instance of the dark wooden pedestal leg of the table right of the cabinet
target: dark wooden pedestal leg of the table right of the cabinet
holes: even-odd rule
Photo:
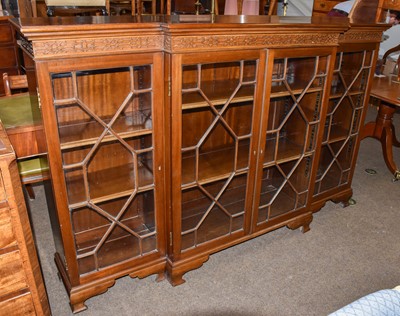
[[[393,160],[393,146],[400,147],[393,126],[393,114],[395,111],[395,106],[380,102],[375,122],[369,122],[364,125],[361,139],[372,137],[381,142],[386,166],[393,173],[395,180],[400,180],[400,171]]]

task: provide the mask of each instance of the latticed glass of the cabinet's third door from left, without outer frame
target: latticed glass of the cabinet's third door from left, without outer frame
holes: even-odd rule
[[[306,206],[328,61],[274,60],[258,224]]]

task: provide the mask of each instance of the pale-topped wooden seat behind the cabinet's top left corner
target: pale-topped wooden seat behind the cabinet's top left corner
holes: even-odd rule
[[[45,0],[48,16],[108,15],[109,0]]]

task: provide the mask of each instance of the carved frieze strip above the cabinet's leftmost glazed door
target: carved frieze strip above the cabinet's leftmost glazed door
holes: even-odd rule
[[[33,51],[35,58],[155,51],[163,48],[163,37],[153,35],[43,40],[33,42]]]

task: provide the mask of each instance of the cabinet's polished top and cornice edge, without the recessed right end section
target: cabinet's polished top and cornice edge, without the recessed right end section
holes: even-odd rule
[[[68,30],[156,30],[168,28],[182,29],[276,29],[276,28],[310,28],[347,29],[347,18],[331,17],[281,17],[281,16],[215,16],[210,15],[154,15],[154,16],[86,16],[86,17],[52,17],[14,19],[21,31],[68,31]]]

